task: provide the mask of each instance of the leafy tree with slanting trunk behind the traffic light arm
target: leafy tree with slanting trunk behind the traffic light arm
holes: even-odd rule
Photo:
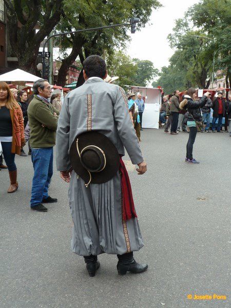
[[[105,0],[65,0],[66,14],[61,25],[57,27],[57,31],[72,31],[127,23],[131,16],[140,17],[139,29],[147,23],[152,9],[160,6],[161,4],[157,0],[128,0],[126,2],[121,0],[112,0],[110,2]],[[81,62],[83,62],[87,55],[102,55],[105,50],[110,54],[115,48],[124,48],[126,42],[130,40],[127,31],[127,27],[117,27],[73,34],[69,39],[62,37],[61,44],[69,44],[72,51],[70,56],[62,61],[57,84],[65,84],[67,70],[78,55]],[[76,36],[78,37],[75,38]],[[79,79],[82,79],[82,73]],[[81,82],[78,81],[79,84]]]

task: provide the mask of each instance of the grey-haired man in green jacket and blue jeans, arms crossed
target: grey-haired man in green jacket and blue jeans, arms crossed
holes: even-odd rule
[[[27,110],[34,167],[30,207],[37,211],[47,211],[42,203],[57,202],[56,198],[48,195],[48,187],[53,175],[53,146],[60,112],[48,101],[52,88],[47,80],[37,80],[33,92],[34,98]]]

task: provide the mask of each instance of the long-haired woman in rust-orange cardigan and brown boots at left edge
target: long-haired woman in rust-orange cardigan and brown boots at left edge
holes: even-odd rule
[[[8,192],[14,192],[18,188],[14,157],[25,145],[24,120],[22,109],[5,82],[0,82],[0,141],[10,176]]]

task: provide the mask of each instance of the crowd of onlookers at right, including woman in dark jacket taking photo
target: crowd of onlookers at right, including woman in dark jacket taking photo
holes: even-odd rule
[[[223,132],[222,120],[225,119],[224,131],[229,132],[231,137],[231,94],[228,99],[223,98],[223,93],[218,92],[217,97],[211,100],[211,93],[207,91],[202,98],[197,98],[197,90],[189,88],[182,95],[180,102],[180,91],[176,90],[172,95],[163,97],[160,108],[160,125],[165,126],[164,132],[178,135],[180,129],[189,133],[186,145],[185,162],[199,164],[192,157],[192,148],[197,132]],[[213,120],[210,123],[211,108],[213,108]],[[216,127],[216,122],[217,127]],[[229,130],[228,130],[229,128]]]

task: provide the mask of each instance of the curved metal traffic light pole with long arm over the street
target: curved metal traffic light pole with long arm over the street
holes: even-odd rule
[[[80,32],[87,32],[87,31],[95,31],[95,30],[102,30],[102,29],[107,29],[107,28],[114,28],[114,27],[121,27],[121,26],[131,26],[131,33],[136,32],[136,24],[139,23],[140,18],[137,17],[132,17],[130,18],[130,23],[128,24],[117,24],[117,25],[111,25],[111,26],[103,26],[103,27],[96,27],[96,28],[89,28],[89,29],[81,29],[81,30],[76,30],[76,31],[69,31],[69,32],[62,32],[62,33],[56,33],[53,35],[50,35],[47,40],[45,41],[43,45],[43,53],[42,53],[42,78],[45,78],[45,67],[46,67],[46,55],[45,55],[45,47],[47,45],[47,42],[50,40],[50,38],[54,36],[62,36],[62,35],[67,35],[67,34],[72,34],[72,33],[80,33]]]

